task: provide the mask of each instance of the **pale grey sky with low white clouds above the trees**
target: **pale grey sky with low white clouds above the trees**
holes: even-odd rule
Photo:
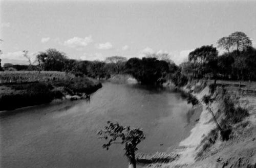
[[[2,63],[56,48],[71,59],[168,53],[176,64],[241,31],[256,46],[256,1],[0,1]],[[221,51],[220,51],[221,52]]]

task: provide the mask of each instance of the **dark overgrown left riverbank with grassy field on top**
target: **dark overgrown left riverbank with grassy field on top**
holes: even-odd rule
[[[66,95],[91,94],[101,83],[65,72],[0,72],[0,110],[49,103]]]

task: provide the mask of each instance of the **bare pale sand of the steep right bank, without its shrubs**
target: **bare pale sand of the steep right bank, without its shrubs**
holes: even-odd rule
[[[187,87],[183,89],[188,91]],[[194,90],[195,86],[190,89]],[[234,90],[229,89],[229,92]],[[209,88],[205,87],[202,91],[193,94],[201,100],[204,95],[209,94]],[[191,130],[190,135],[180,142],[176,150],[180,158],[170,163],[156,163],[148,167],[256,167],[256,95],[240,92],[232,94],[239,95],[239,104],[248,109],[249,116],[232,126],[232,137],[228,141],[223,141],[218,136],[215,143],[204,149],[202,140],[217,126],[202,103],[203,111],[198,123]],[[211,104],[211,109],[219,123],[225,118],[220,112],[223,108],[222,101],[219,97]]]

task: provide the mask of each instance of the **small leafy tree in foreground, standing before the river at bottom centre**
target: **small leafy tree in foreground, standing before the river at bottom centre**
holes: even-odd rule
[[[100,138],[108,140],[108,143],[102,146],[106,150],[112,144],[124,144],[124,155],[129,161],[129,168],[136,168],[135,151],[138,150],[136,146],[145,139],[141,129],[130,128],[129,126],[123,127],[118,123],[108,121],[105,129],[100,130],[97,134]]]

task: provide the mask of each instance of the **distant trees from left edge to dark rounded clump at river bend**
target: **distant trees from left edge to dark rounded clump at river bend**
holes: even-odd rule
[[[27,51],[24,51],[27,57]],[[154,57],[153,57],[154,56]],[[160,85],[166,81],[170,72],[175,72],[178,67],[167,59],[165,54],[156,58],[156,55],[148,55],[147,58],[108,57],[101,61],[79,61],[68,59],[65,53],[56,49],[47,49],[36,55],[37,65],[12,65],[5,64],[4,70],[37,70],[40,71],[64,71],[76,76],[89,76],[93,78],[106,79],[111,74],[132,74],[143,84]]]

